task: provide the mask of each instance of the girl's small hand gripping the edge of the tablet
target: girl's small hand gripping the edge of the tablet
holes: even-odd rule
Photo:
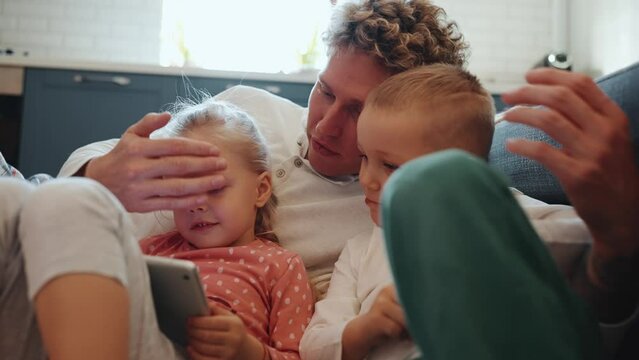
[[[264,347],[247,333],[237,315],[209,303],[211,315],[194,316],[187,324],[191,359],[262,359]]]

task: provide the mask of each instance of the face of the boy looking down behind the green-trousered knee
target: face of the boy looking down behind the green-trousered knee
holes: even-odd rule
[[[364,188],[371,219],[381,226],[380,195],[388,177],[402,164],[433,152],[427,144],[427,114],[414,110],[386,111],[365,107],[357,122]],[[434,134],[436,136],[436,134]]]

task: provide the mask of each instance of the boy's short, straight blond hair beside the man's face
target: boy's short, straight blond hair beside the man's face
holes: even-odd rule
[[[366,99],[374,111],[412,112],[428,126],[424,141],[437,150],[459,148],[488,157],[495,105],[479,80],[459,66],[420,66],[386,79]]]

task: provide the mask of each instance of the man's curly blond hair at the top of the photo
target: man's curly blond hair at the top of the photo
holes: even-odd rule
[[[427,0],[341,3],[323,39],[330,55],[363,51],[392,73],[433,63],[464,66],[468,51],[457,24]]]

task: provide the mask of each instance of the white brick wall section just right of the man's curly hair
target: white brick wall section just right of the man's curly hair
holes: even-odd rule
[[[553,6],[563,0],[434,0],[470,43],[469,69],[495,91],[523,83],[524,73],[555,47]]]

